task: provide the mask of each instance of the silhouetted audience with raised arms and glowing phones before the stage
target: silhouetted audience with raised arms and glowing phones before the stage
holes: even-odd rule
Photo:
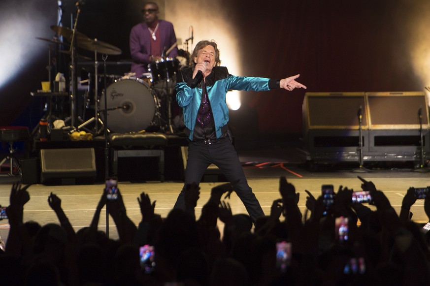
[[[298,192],[281,177],[270,214],[253,222],[247,214],[232,214],[229,183],[212,188],[196,218],[199,187],[191,184],[184,189],[185,209],[172,209],[165,218],[142,192],[137,226],[121,192],[117,200],[103,192],[91,224],[75,232],[54,193],[48,203],[59,223],[23,222],[28,187],[11,188],[1,285],[430,285],[429,236],[410,220],[413,188],[399,214],[372,182],[362,185],[370,190],[372,208],[353,203],[353,191],[340,186],[331,208],[323,196],[307,192],[301,213]],[[104,207],[116,240],[98,229]],[[424,209],[430,218],[429,196]],[[222,236],[218,220],[224,222]]]

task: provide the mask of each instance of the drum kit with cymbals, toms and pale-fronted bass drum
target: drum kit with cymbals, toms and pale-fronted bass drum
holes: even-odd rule
[[[107,126],[105,130],[117,133],[142,130],[174,132],[171,120],[171,102],[174,97],[176,74],[180,68],[177,59],[163,58],[157,62],[150,63],[148,65],[149,72],[141,75],[141,77],[131,73],[124,76],[106,75],[107,55],[120,55],[122,53],[121,49],[98,39],[91,39],[81,32],[75,31],[73,33],[72,29],[66,27],[51,26],[51,30],[70,43],[75,40],[76,47],[94,52],[94,75],[89,76],[87,80],[87,97],[89,95],[89,98],[84,100],[86,101],[85,106],[81,108],[91,110],[91,112],[94,111],[94,116],[90,119],[86,119],[84,116],[80,117],[77,113],[77,88],[73,89],[73,86],[77,86],[77,76],[73,72],[73,66],[75,65],[73,64],[72,56],[70,76],[71,130],[84,129],[98,134],[102,131],[102,128],[99,128],[100,126]],[[58,37],[54,37],[54,39],[37,39],[63,44]],[[63,52],[73,54],[72,49]],[[103,55],[104,74],[101,75],[98,72],[98,54]],[[79,54],[75,54],[75,58],[89,59]],[[92,59],[90,60],[92,61]],[[48,69],[50,72],[50,65]],[[51,81],[51,74],[49,80]],[[104,85],[101,83],[102,81],[104,81]],[[82,81],[79,83],[81,84]],[[99,90],[100,85],[103,87],[101,91]],[[91,98],[93,96],[94,98]],[[93,104],[88,105],[87,101],[92,101]],[[91,127],[87,127],[88,125],[91,125]]]

